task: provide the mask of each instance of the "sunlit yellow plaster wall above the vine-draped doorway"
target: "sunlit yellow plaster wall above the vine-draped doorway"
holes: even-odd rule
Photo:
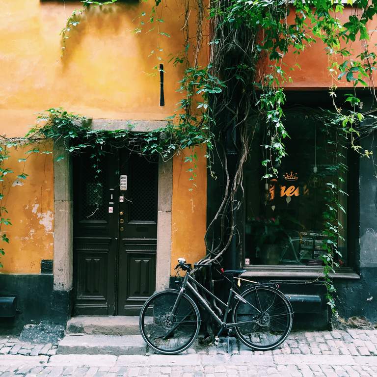
[[[193,1],[192,1],[193,2]],[[73,29],[60,59],[60,30],[80,2],[0,0],[0,131],[23,135],[35,121],[35,112],[63,107],[95,118],[164,119],[180,99],[178,81],[184,67],[168,63],[183,51],[181,1],[158,7],[164,19],[158,29],[132,30],[138,16],[147,19],[154,0],[128,1],[92,8]],[[193,2],[194,3],[194,2]],[[165,6],[168,5],[168,6]],[[161,14],[162,13],[162,14]],[[195,21],[195,11],[190,23]],[[157,27],[156,22],[153,24]],[[194,32],[196,27],[192,27]],[[157,59],[156,51],[164,61]],[[164,64],[165,107],[160,107],[160,78],[153,67]]]

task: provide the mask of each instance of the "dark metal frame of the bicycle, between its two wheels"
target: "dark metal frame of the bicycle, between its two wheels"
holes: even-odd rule
[[[224,318],[223,320],[221,320],[217,315],[216,313],[213,311],[213,309],[210,307],[210,305],[208,305],[207,301],[202,297],[200,296],[200,294],[196,291],[196,289],[190,284],[190,282],[193,282],[194,284],[196,284],[197,286],[199,286],[203,291],[205,291],[208,295],[210,295],[211,297],[213,297],[217,302],[219,302],[221,305],[223,305],[225,307],[225,313],[224,313]],[[231,281],[232,283],[232,286],[229,290],[229,296],[228,296],[228,301],[227,303],[223,302],[222,300],[220,300],[217,296],[215,296],[211,291],[209,291],[207,288],[203,287],[203,285],[201,285],[198,281],[196,281],[189,273],[189,271],[186,273],[185,275],[185,278],[183,280],[183,283],[182,283],[182,288],[180,289],[179,291],[179,294],[178,294],[178,297],[174,303],[174,306],[173,306],[173,309],[170,313],[170,320],[172,319],[172,317],[174,316],[175,314],[175,311],[176,311],[176,308],[178,306],[178,303],[181,299],[181,297],[183,296],[186,288],[188,288],[190,290],[190,292],[193,294],[193,296],[195,296],[197,298],[197,300],[207,309],[207,311],[211,314],[211,316],[215,319],[215,321],[220,325],[220,330],[217,334],[217,336],[220,336],[221,332],[225,329],[230,329],[232,327],[236,327],[236,326],[239,326],[239,325],[242,325],[242,324],[247,324],[247,323],[251,323],[251,322],[255,322],[255,321],[242,321],[242,322],[235,322],[235,323],[227,323],[226,320],[228,318],[228,314],[231,310],[230,308],[230,304],[231,304],[231,301],[232,301],[232,297],[235,297],[236,299],[240,300],[241,302],[243,302],[244,304],[248,304],[250,305],[252,308],[254,308],[258,313],[261,313],[261,311],[256,308],[254,305],[252,305],[250,302],[248,302],[247,300],[245,300],[241,295],[239,295],[237,292],[234,291],[234,282]]]

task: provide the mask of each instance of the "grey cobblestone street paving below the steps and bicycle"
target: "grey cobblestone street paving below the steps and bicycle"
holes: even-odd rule
[[[0,377],[225,377],[377,376],[377,330],[293,332],[273,351],[253,352],[232,342],[184,354],[55,354],[57,345],[0,338]]]

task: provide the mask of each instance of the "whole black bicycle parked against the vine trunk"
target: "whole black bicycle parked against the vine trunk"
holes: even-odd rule
[[[181,278],[181,289],[167,289],[154,294],[145,302],[140,312],[141,335],[153,350],[162,354],[177,354],[188,349],[198,336],[201,323],[199,309],[186,293],[187,290],[220,326],[215,343],[218,343],[218,337],[224,330],[233,328],[242,343],[253,350],[272,350],[285,341],[292,328],[294,313],[277,284],[258,284],[241,279],[239,276],[244,269],[220,269],[223,277],[231,282],[228,301],[225,303],[190,275],[191,265],[186,263],[184,258],[178,259],[178,262],[178,276],[181,278],[180,270],[186,271],[186,275]],[[208,266],[211,268],[210,265],[194,265],[195,268]],[[237,292],[236,280],[247,281],[253,285],[240,293]],[[222,318],[216,315],[193,285],[225,308]],[[228,322],[230,312],[233,312],[232,321]]]

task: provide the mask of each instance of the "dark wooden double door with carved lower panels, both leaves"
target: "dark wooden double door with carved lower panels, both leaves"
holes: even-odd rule
[[[158,161],[126,150],[74,160],[76,315],[138,315],[155,291]]]

